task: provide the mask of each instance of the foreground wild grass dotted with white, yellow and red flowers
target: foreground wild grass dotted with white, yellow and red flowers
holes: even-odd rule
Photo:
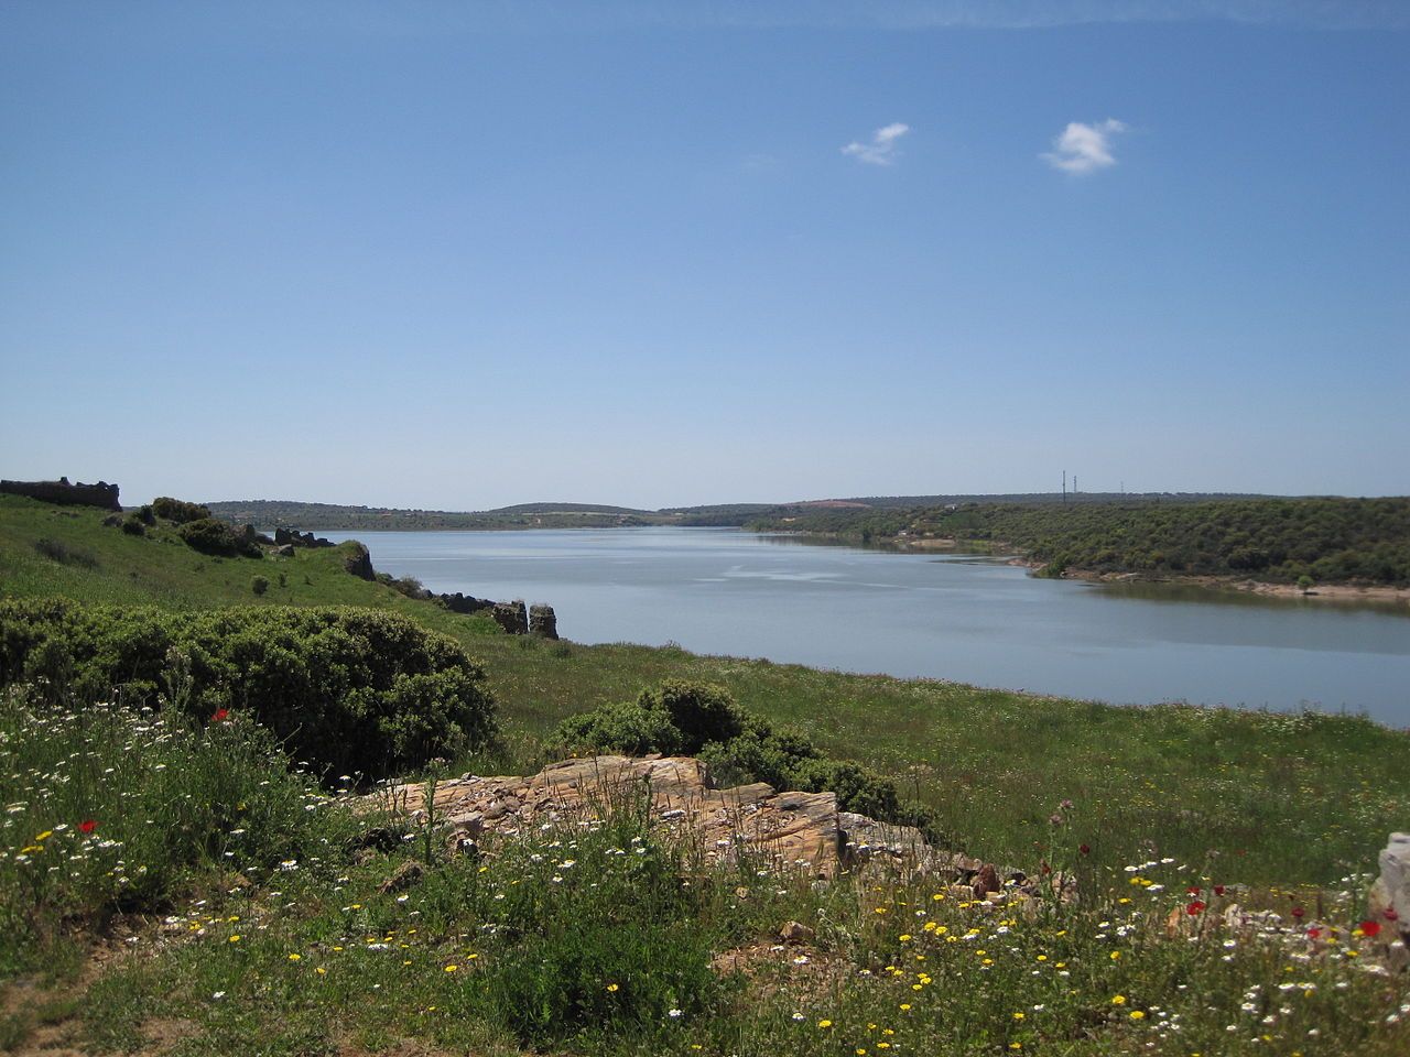
[[[4,716],[4,905],[127,937],[90,982],[0,1023],[11,1047],[41,1013],[85,1053],[159,1036],[231,1057],[1410,1046],[1410,984],[1376,970],[1358,927],[1362,877],[1289,894],[1242,885],[1228,858],[1084,858],[1058,864],[1080,867],[1080,899],[1062,901],[891,870],[706,870],[613,791],[599,812],[426,857],[417,823],[321,796],[252,730],[117,705]],[[393,839],[352,839],[374,829]],[[386,884],[413,860],[419,879]],[[778,937],[787,922],[799,943]],[[32,964],[34,930],[4,932],[8,972]]]

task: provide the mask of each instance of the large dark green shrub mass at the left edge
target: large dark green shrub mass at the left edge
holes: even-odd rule
[[[169,685],[173,657],[190,685]],[[484,669],[441,634],[364,609],[164,613],[0,602],[0,685],[248,709],[320,771],[396,774],[494,740]],[[165,693],[162,693],[165,691]]]

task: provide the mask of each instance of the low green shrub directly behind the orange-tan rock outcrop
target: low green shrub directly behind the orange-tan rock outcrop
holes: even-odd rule
[[[929,812],[902,803],[890,778],[862,764],[828,758],[802,734],[774,730],[713,684],[670,681],[642,691],[634,702],[570,716],[558,724],[554,743],[561,751],[698,755],[721,784],[830,791],[843,810],[919,824],[938,836]]]

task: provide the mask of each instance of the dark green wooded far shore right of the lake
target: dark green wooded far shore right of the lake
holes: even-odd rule
[[[1066,569],[1248,576],[1296,583],[1410,585],[1410,499],[970,503],[811,507],[750,528],[863,541],[940,538],[1012,547]]]

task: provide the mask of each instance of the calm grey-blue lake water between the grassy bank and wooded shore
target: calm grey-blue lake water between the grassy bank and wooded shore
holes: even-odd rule
[[[547,602],[580,643],[675,641],[1120,703],[1366,712],[1410,726],[1410,617],[721,528],[326,533],[437,592]]]

